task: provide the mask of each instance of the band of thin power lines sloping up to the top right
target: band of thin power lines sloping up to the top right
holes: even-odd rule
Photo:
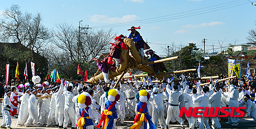
[[[240,0],[238,0],[238,1],[240,1]],[[233,2],[236,2],[236,1],[233,1]],[[247,1],[239,2],[239,3],[244,3],[244,2],[247,2]],[[212,9],[208,9],[208,8],[215,7],[215,6],[209,6],[209,7],[205,7],[205,8],[201,8],[201,9],[195,9],[195,10],[185,11],[185,12],[181,12],[181,13],[170,14],[170,15],[165,15],[165,16],[160,16],[160,17],[154,17],[154,18],[148,18],[148,19],[137,20],[137,21],[123,22],[123,23],[115,23],[115,24],[109,24],[109,25],[99,25],[99,26],[96,26],[95,28],[116,28],[116,27],[124,27],[124,26],[126,26],[126,25],[130,25],[131,23],[137,24],[137,23],[142,22],[142,21],[144,21],[144,23],[141,23],[141,24],[154,23],[154,22],[161,22],[161,21],[166,21],[166,20],[174,20],[174,19],[178,19],[178,18],[184,18],[184,17],[189,17],[189,16],[195,16],[195,15],[200,15],[200,14],[204,14],[204,13],[219,11],[219,10],[223,10],[223,9],[227,9],[227,8],[232,8],[232,7],[236,7],[236,6],[240,6],[240,5],[247,4],[248,2],[247,2],[247,3],[244,3],[244,4],[240,4],[240,5],[235,5],[235,4],[239,4],[239,3],[234,3],[234,4],[230,4],[230,3],[232,3],[232,2],[224,3],[224,4],[219,4],[219,5],[215,5],[215,6],[220,6],[220,5],[229,4],[229,5],[225,5],[225,6],[221,6],[221,7],[216,7],[216,8],[212,8]],[[234,5],[234,6],[230,6],[230,5]],[[228,7],[228,6],[229,6],[229,7]],[[223,7],[226,7],[226,8],[223,8]],[[219,9],[219,8],[221,8],[221,9]],[[206,9],[206,10],[197,11],[197,10],[202,10],[202,9]],[[215,9],[217,9],[217,10],[215,10]],[[212,10],[212,11],[209,11],[209,10]],[[197,11],[197,12],[193,12],[193,11]],[[208,12],[205,12],[205,11],[208,11]],[[187,13],[187,12],[193,12],[193,13],[188,13],[188,14],[183,14],[183,15],[178,15],[178,16],[173,16],[173,17],[167,17],[167,16],[172,16],[172,15],[177,15],[177,14],[182,14],[182,13]],[[203,13],[200,13],[200,12],[203,12]],[[194,13],[198,13],[198,14],[194,14]],[[193,14],[193,15],[190,15],[190,14]],[[185,16],[185,15],[188,15],[188,16]],[[166,18],[162,18],[162,17],[166,17]],[[175,18],[175,17],[177,17],[177,18]],[[157,19],[157,18],[161,18],[161,19]],[[171,19],[170,19],[170,18],[171,18]],[[152,19],[154,19],[154,20],[152,20]]]

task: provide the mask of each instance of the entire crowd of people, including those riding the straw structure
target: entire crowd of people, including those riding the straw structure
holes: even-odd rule
[[[142,36],[132,27],[128,38],[133,39],[141,58],[144,56],[145,42]],[[120,51],[126,49],[120,35],[115,38],[111,46],[111,53],[103,61],[97,61],[97,66],[102,71],[104,82],[98,80],[97,85],[83,84],[82,82],[55,82],[42,81],[40,76],[33,76],[32,82],[19,82],[11,80],[8,85],[1,85],[1,95],[4,96],[2,104],[3,122],[1,128],[11,128],[11,117],[17,117],[17,126],[55,126],[58,128],[116,128],[116,121],[120,126],[126,125],[124,118],[134,120],[130,128],[168,128],[168,124],[178,121],[185,128],[184,121],[188,121],[189,128],[221,128],[219,117],[179,117],[180,109],[185,107],[246,107],[247,116],[256,121],[255,105],[255,79],[231,79],[218,82],[227,78],[220,75],[219,79],[186,81],[196,78],[193,74],[173,74],[175,78],[161,79],[159,83],[154,76],[148,76],[143,81],[133,77],[132,80],[120,81],[116,87],[114,80],[109,80],[109,70],[115,71],[123,62]],[[152,49],[146,51],[151,56],[151,61],[160,60]],[[163,63],[153,64],[155,72],[167,72]],[[209,82],[203,87],[202,83]],[[104,85],[103,85],[104,84]],[[204,109],[201,109],[203,111]],[[228,111],[227,112],[231,112]],[[218,114],[219,115],[219,114]],[[237,115],[235,112],[234,115]],[[222,118],[231,126],[239,125],[239,118],[229,116]]]

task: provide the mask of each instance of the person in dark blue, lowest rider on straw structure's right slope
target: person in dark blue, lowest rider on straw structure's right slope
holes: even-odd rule
[[[150,62],[161,59],[158,55],[155,54],[155,51],[153,51],[152,49],[147,50],[146,55],[151,56]],[[154,64],[154,71],[157,72],[157,73],[160,73],[160,72],[163,72],[163,71],[167,72],[168,70],[164,66],[163,62],[161,62],[161,63]]]

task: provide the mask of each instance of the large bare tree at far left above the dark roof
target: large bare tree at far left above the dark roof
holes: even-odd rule
[[[18,5],[3,11],[0,20],[1,40],[3,42],[22,43],[33,51],[38,51],[50,38],[52,32],[42,25],[40,13],[22,13]]]

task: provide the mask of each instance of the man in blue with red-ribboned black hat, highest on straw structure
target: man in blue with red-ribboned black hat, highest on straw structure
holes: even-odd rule
[[[137,50],[140,50],[140,55],[143,58],[144,57],[144,40],[142,38],[142,36],[140,35],[140,33],[138,31],[136,31],[135,29],[140,29],[140,26],[138,28],[132,26],[131,29],[128,29],[127,31],[131,31],[130,35],[128,36],[128,38],[133,39],[133,41],[135,42],[135,46],[137,48]]]

